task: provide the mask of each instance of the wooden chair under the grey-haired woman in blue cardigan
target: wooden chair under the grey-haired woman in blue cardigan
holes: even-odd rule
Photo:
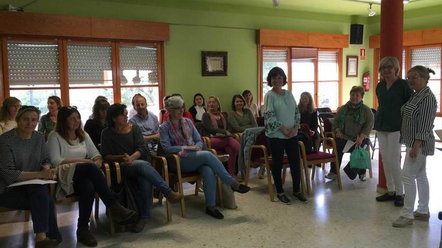
[[[208,144],[210,145],[210,144]],[[212,152],[213,154],[216,155],[216,152],[213,149],[204,149],[204,150],[208,150],[210,152]],[[198,196],[198,181],[202,180],[202,175],[197,172],[197,171],[193,171],[193,172],[189,172],[189,173],[185,173],[185,172],[181,172],[181,164],[178,158],[178,155],[176,154],[165,154],[164,150],[161,146],[161,144],[158,144],[158,154],[165,157],[166,159],[166,165],[167,165],[167,171],[168,174],[165,174],[167,176],[165,176],[165,178],[167,178],[167,182],[171,183],[172,185],[174,185],[174,187],[178,188],[178,191],[184,195],[184,189],[183,189],[183,183],[185,182],[196,182],[195,183],[195,196]],[[219,195],[219,199],[220,199],[220,204],[221,207],[224,207],[224,201],[223,201],[223,188],[222,188],[222,182],[219,179],[219,177],[217,177],[217,186],[218,186],[218,195]],[[181,205],[181,217],[185,218],[186,217],[186,210],[185,210],[185,203],[184,203],[184,197],[181,199],[180,202]]]

